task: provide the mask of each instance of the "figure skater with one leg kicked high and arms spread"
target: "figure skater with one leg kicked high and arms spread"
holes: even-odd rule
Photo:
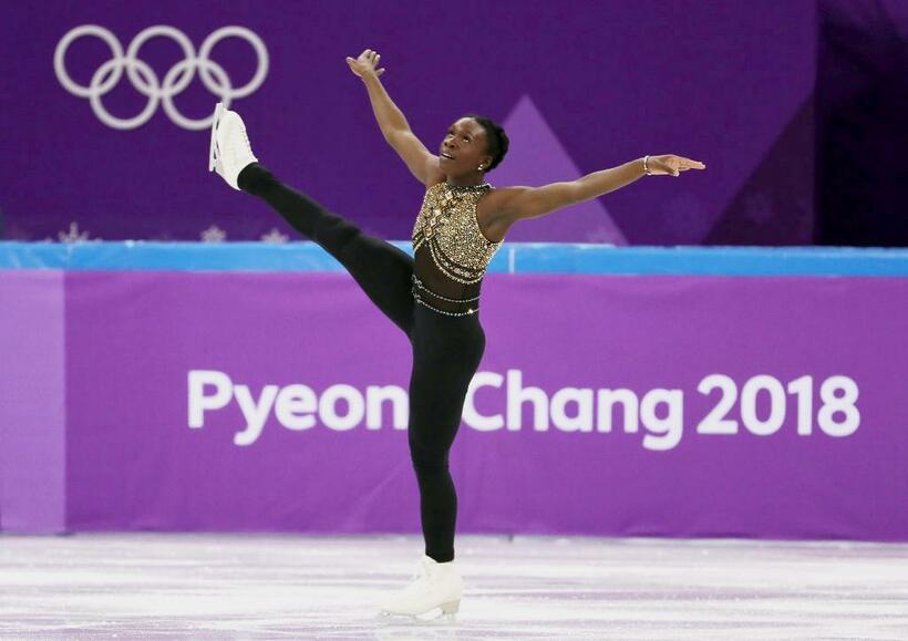
[[[275,178],[252,155],[243,120],[220,103],[211,127],[208,169],[216,169],[235,189],[264,199],[319,244],[410,339],[407,430],[425,555],[422,576],[392,595],[381,610],[417,616],[441,608],[454,614],[463,582],[454,566],[457,498],[447,454],[467,385],[485,349],[478,302],[486,266],[518,220],[608,194],[644,175],[679,176],[705,165],[674,155],[646,156],[577,180],[493,188],[485,174],[507,152],[505,132],[487,118],[465,116],[451,125],[437,155],[430,153],[382,86],[380,59],[367,49],[347,63],[365,85],[385,141],[426,186],[412,234],[413,258]]]

